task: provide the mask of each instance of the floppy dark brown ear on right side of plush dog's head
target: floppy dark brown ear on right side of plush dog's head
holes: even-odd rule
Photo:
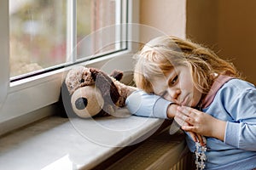
[[[90,68],[90,72],[96,87],[99,88],[102,93],[104,102],[107,105],[115,105],[120,94],[112,79],[106,73],[96,68]]]

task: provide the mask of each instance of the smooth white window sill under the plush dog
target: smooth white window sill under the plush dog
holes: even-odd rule
[[[130,116],[67,119],[51,116],[0,140],[0,169],[90,169],[152,135],[163,120]]]

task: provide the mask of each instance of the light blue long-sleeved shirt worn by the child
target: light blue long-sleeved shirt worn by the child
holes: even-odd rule
[[[154,94],[136,91],[126,99],[131,114],[167,118],[172,102]],[[218,89],[212,103],[202,110],[227,122],[224,141],[207,138],[207,169],[253,169],[256,167],[256,88],[231,79]],[[189,150],[195,142],[186,136]]]

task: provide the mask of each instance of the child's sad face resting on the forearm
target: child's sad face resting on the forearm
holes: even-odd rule
[[[176,103],[195,107],[201,99],[201,92],[195,88],[189,68],[176,66],[165,77],[154,78],[154,93]]]

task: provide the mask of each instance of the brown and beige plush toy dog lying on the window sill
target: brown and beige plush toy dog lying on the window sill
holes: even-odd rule
[[[84,66],[70,70],[61,88],[67,116],[109,116],[119,107],[124,107],[125,99],[137,88],[119,82],[122,77],[122,71],[113,71],[109,76],[101,70]]]

